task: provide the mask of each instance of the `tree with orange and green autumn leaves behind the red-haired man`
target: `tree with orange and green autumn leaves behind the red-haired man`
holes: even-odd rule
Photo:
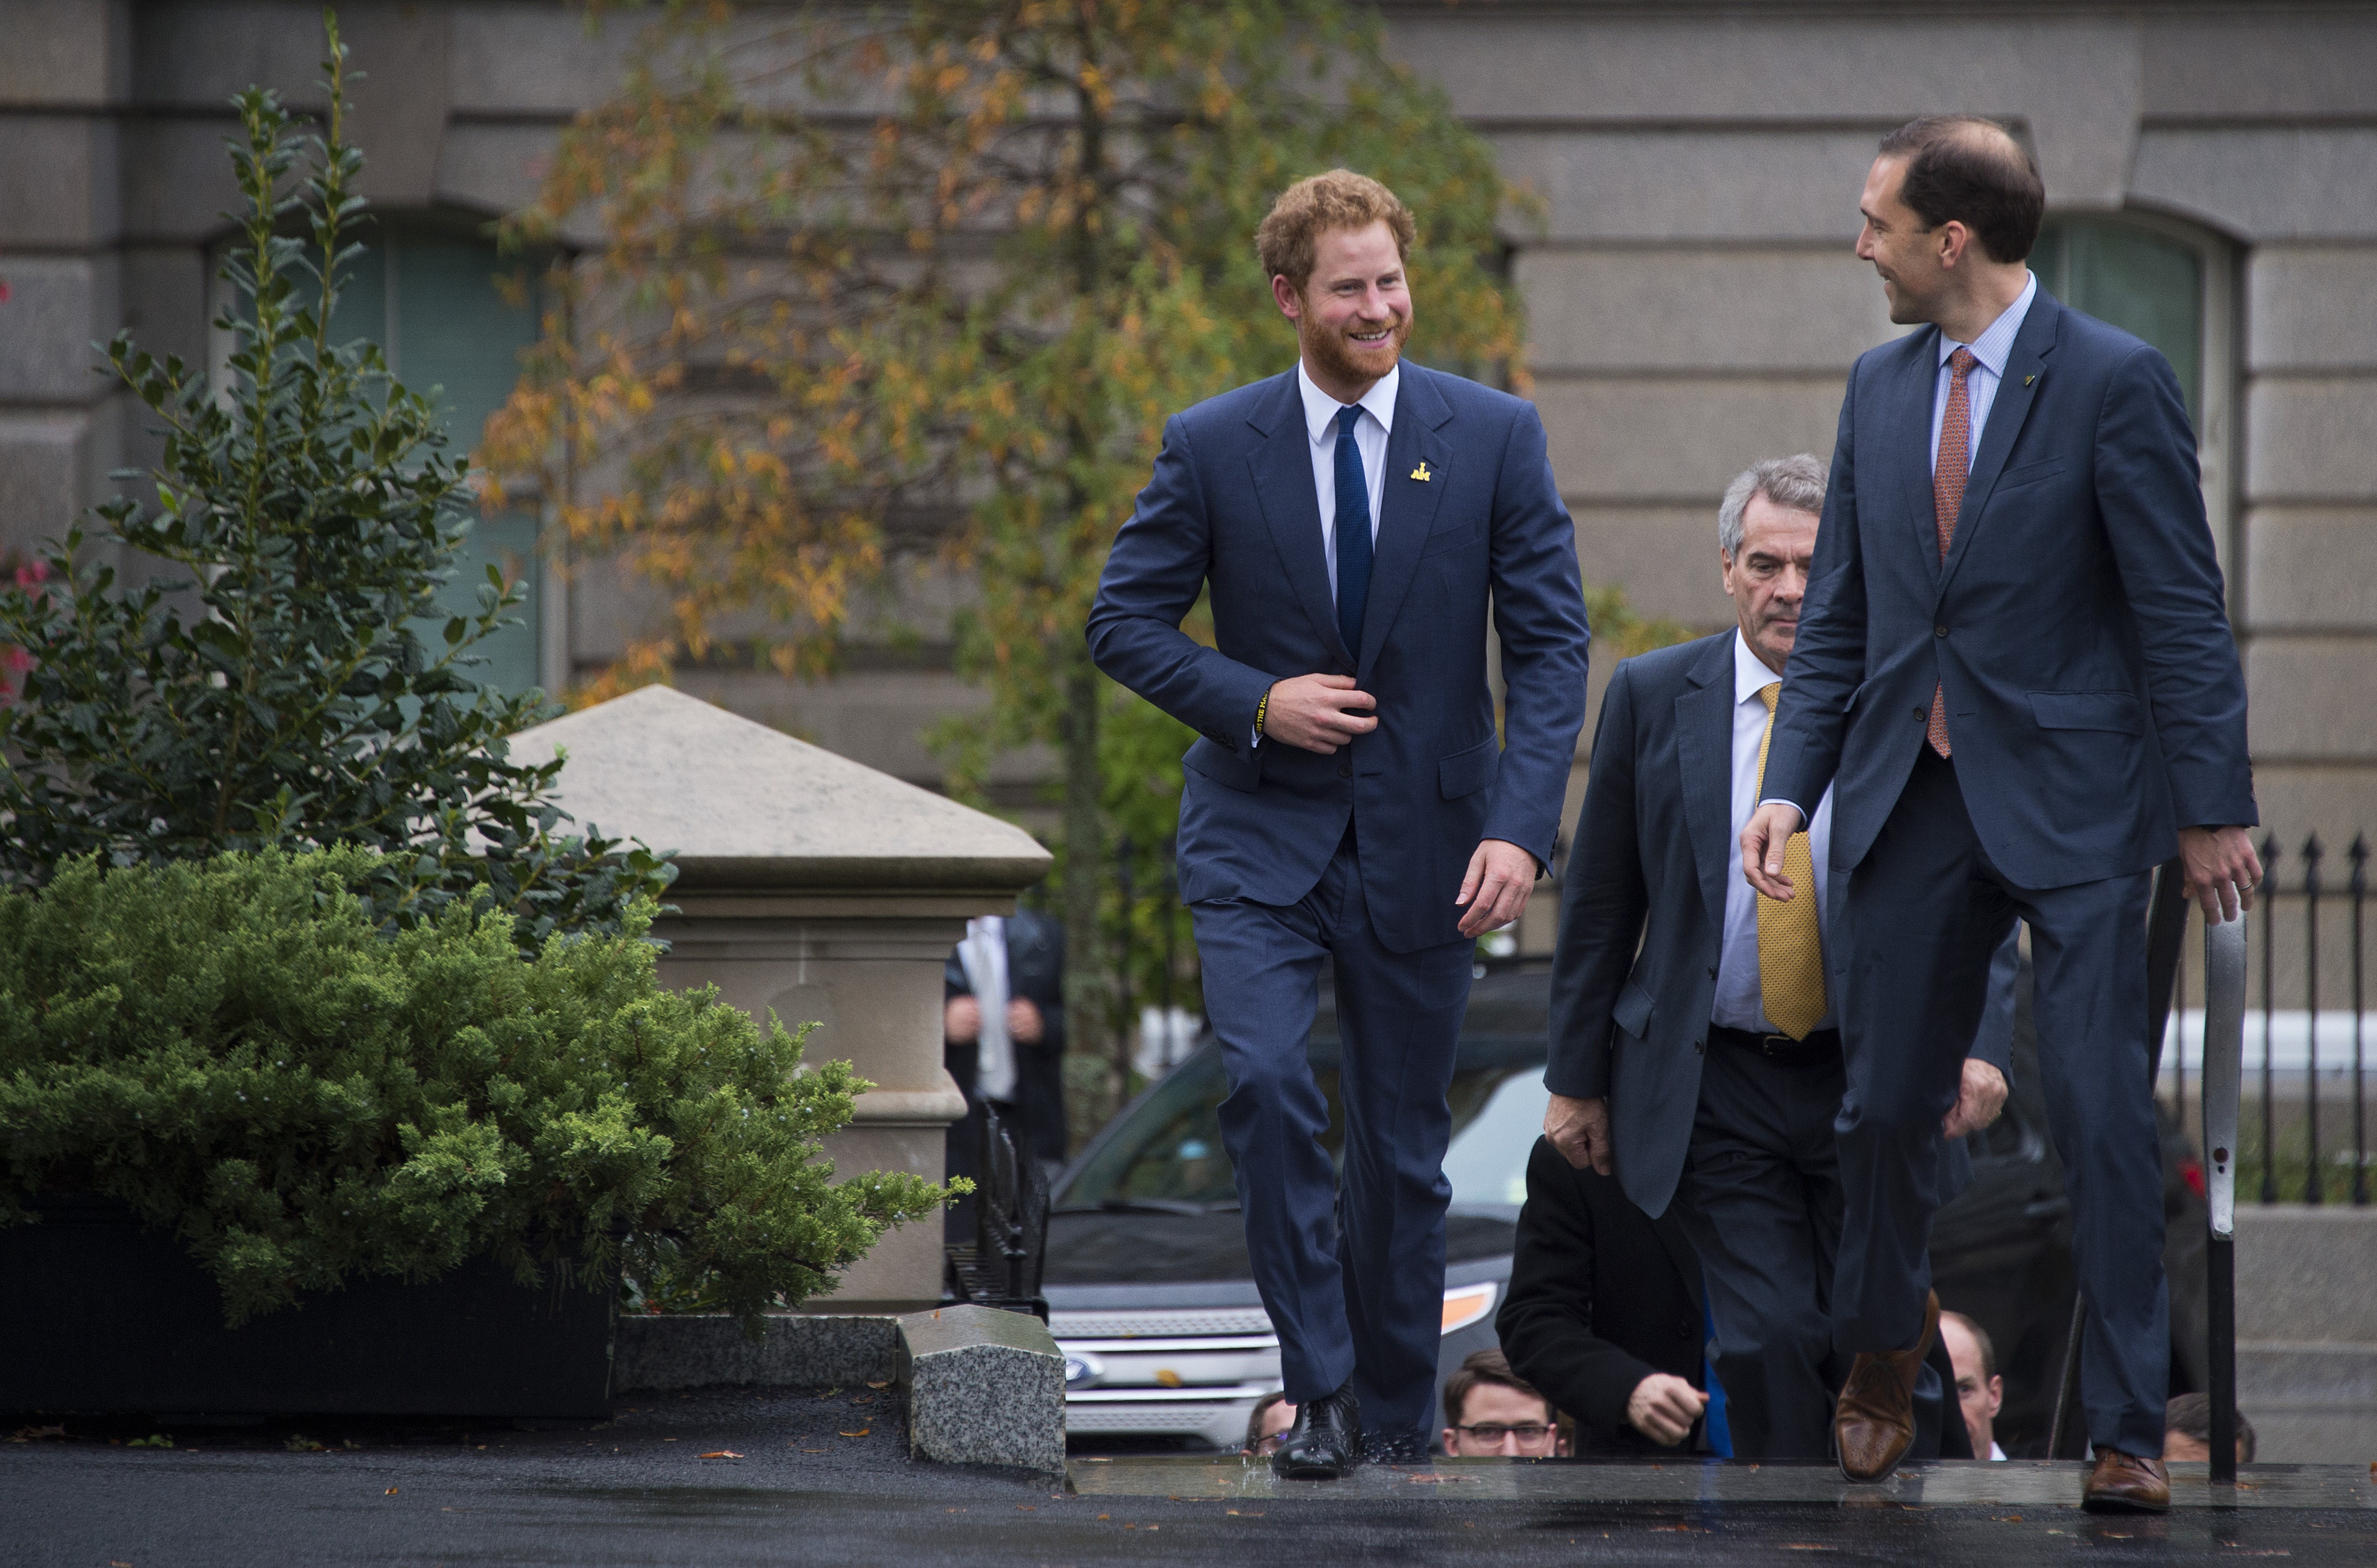
[[[960,796],[1001,751],[1058,758],[1093,1045],[1108,846],[1169,834],[1191,736],[1082,625],[1165,418],[1293,361],[1255,223],[1305,173],[1383,178],[1419,214],[1412,356],[1512,385],[1498,221],[1524,197],[1338,0],[680,0],[649,26],[509,223],[601,242],[556,273],[487,456],[668,594],[601,691],[685,660],[825,675],[915,570],[956,575],[956,668],[989,703],[937,744]]]

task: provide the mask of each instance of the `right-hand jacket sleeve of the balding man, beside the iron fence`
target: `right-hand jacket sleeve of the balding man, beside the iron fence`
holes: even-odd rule
[[[2196,435],[2170,361],[2144,344],[2113,373],[2097,413],[2097,508],[2146,656],[2177,824],[2261,822]]]

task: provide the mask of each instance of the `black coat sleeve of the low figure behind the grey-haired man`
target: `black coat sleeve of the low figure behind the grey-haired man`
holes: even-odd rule
[[[1626,1399],[1659,1368],[1593,1333],[1593,1212],[1545,1138],[1526,1157],[1526,1207],[1495,1335],[1512,1371],[1574,1416],[1593,1447],[1633,1433]]]

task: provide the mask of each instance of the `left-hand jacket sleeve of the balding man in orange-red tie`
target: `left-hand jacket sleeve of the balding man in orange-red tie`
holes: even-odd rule
[[[1814,815],[1840,767],[1849,694],[1866,677],[1866,563],[1856,535],[1856,371],[1840,399],[1833,478],[1823,489],[1816,561],[1799,606],[1799,634],[1783,668],[1783,698],[1766,755],[1768,801]]]

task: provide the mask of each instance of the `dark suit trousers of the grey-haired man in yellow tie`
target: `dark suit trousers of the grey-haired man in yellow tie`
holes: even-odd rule
[[[1842,1190],[1833,1124],[1840,1062],[1783,1067],[1711,1043],[1676,1212],[1700,1254],[1726,1385],[1735,1459],[1828,1459],[1833,1392],[1849,1357],[1833,1349],[1833,1269]],[[1971,1456],[1963,1418],[1944,1423],[1944,1352],[1916,1373],[1916,1459]]]

